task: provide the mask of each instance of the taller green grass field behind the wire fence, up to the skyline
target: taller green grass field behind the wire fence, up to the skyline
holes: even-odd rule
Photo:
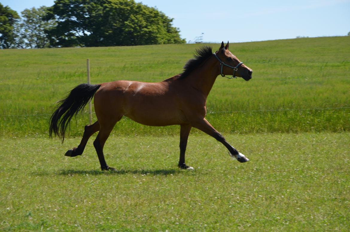
[[[232,43],[253,79],[219,76],[208,97],[208,120],[225,133],[349,131],[349,42],[350,36]],[[181,73],[200,46],[0,50],[0,136],[47,135],[54,103],[86,82],[87,58],[92,83],[157,82]],[[320,108],[344,109],[295,110]],[[290,111],[265,111],[271,109]],[[87,115],[79,115],[71,136],[80,136],[86,123]],[[176,127],[144,127],[127,118],[118,125],[113,133],[119,135],[177,134]]]

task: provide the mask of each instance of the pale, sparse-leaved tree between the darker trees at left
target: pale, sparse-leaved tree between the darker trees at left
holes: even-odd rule
[[[17,45],[26,48],[49,47],[49,38],[45,33],[57,25],[56,20],[43,20],[48,7],[25,9],[21,12],[22,20],[17,27]]]

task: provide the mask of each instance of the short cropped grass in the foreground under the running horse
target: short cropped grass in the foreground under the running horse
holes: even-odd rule
[[[0,231],[348,231],[349,133],[112,136],[100,171],[90,141],[0,139]]]

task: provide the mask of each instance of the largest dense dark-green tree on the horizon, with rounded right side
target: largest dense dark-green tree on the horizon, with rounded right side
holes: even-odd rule
[[[55,47],[184,43],[173,19],[134,0],[56,0],[47,20]]]

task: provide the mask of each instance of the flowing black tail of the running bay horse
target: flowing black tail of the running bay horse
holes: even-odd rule
[[[63,143],[70,120],[84,109],[100,86],[100,84],[79,84],[70,91],[65,99],[58,102],[58,106],[50,118],[50,138],[53,131],[55,135],[62,139]]]

